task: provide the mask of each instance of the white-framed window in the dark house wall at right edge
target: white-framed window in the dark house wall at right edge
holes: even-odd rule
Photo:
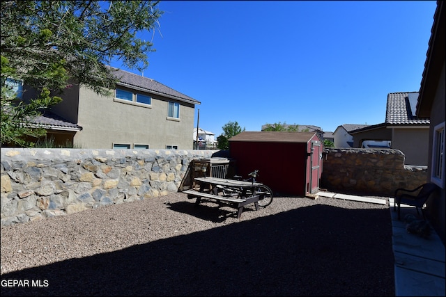
[[[433,129],[431,181],[443,188],[445,186],[445,122]]]

